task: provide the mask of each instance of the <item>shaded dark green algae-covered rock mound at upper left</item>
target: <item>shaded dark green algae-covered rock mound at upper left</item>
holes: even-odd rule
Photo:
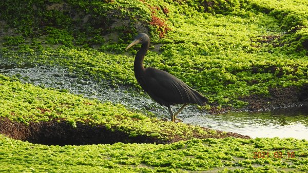
[[[70,47],[74,43],[71,38],[79,40],[80,33],[85,33],[87,37],[82,43],[79,40],[79,44],[91,44],[98,33],[117,32],[121,33],[122,40],[131,40],[137,33],[137,22],[158,38],[155,27],[146,27],[151,21],[150,8],[141,1],[6,1],[0,4],[0,19],[24,36],[52,34],[50,36],[55,36],[54,39],[59,39],[60,32],[69,37],[70,43],[49,41],[50,44],[59,43]],[[11,15],[13,13],[15,15]],[[114,21],[120,24],[111,27]],[[65,40],[65,37],[61,39]]]

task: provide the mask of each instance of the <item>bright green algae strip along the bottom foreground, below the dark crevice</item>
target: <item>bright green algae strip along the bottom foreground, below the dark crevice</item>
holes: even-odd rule
[[[260,145],[261,144],[261,145]],[[13,172],[305,172],[308,143],[295,139],[204,139],[168,145],[34,145],[0,135],[0,171]],[[268,152],[265,158],[254,152]],[[283,159],[275,158],[281,152]],[[294,152],[294,158],[287,158]]]

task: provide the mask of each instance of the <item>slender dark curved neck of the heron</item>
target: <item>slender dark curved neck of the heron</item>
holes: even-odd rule
[[[138,78],[140,78],[140,75],[142,75],[142,72],[144,72],[143,59],[144,59],[144,56],[145,56],[148,48],[149,48],[149,43],[143,43],[141,45],[140,50],[137,52],[137,54],[135,56],[135,60],[134,60],[134,63],[133,63],[133,70],[134,70],[134,74],[135,74],[138,82],[140,82]]]

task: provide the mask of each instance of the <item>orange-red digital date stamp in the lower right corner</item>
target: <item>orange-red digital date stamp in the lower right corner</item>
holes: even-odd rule
[[[268,152],[268,151],[256,151],[254,152],[254,159],[264,159],[264,158],[278,158],[278,159],[290,159],[290,158],[295,158],[295,152],[289,152],[287,151],[286,153],[282,151],[275,151],[275,152]]]

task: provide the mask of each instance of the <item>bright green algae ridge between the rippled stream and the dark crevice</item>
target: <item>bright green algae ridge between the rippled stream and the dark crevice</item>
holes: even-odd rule
[[[44,112],[42,112],[44,110]],[[130,136],[147,135],[170,140],[175,136],[190,139],[192,134],[206,134],[199,126],[150,119],[127,110],[123,105],[88,100],[65,90],[52,90],[22,84],[0,75],[0,117],[28,123],[62,119],[104,125],[127,132]]]

